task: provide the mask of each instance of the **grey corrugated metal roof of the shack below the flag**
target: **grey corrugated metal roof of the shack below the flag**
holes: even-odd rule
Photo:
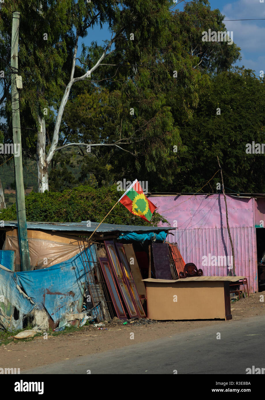
[[[82,222],[67,222],[59,224],[57,222],[27,222],[27,229],[42,229],[42,230],[63,230],[75,232],[93,232],[98,222],[90,222],[87,226],[87,221]],[[4,226],[16,228],[17,221],[4,221]],[[114,225],[114,224],[101,224],[96,232],[161,232],[168,231],[175,228],[165,226],[138,226],[138,225]]]

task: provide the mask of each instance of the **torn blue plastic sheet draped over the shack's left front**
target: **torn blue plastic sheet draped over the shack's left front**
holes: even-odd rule
[[[87,280],[82,257],[88,261],[86,268],[91,269],[96,260],[94,246],[91,245],[89,252],[79,253],[45,269],[11,272],[0,266],[0,300],[3,304],[10,302],[18,311],[18,319],[14,319],[14,313],[6,318],[4,307],[0,307],[0,327],[22,329],[25,316],[36,317],[38,312],[44,314],[44,311],[54,322],[59,322],[65,314],[78,314],[81,310],[77,306],[82,300],[83,284]],[[41,319],[45,321],[44,315]],[[48,319],[45,324],[48,324]]]

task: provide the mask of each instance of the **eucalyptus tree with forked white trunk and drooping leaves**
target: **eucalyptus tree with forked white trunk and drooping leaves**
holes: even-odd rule
[[[40,192],[48,190],[48,168],[55,152],[61,150],[58,149],[61,122],[73,84],[92,79],[95,70],[105,67],[103,64],[110,55],[121,55],[129,50],[131,62],[135,63],[143,54],[152,54],[158,38],[164,36],[169,4],[166,0],[4,2],[0,29],[7,32],[6,40],[10,38],[12,11],[18,10],[21,15],[18,55],[24,84],[20,99],[21,112],[30,110],[30,113],[26,113],[25,121],[30,125],[31,120],[37,128],[31,137],[28,135],[25,138],[28,139],[27,150],[30,152],[34,135],[37,136],[36,161]],[[104,46],[93,43],[89,49],[83,47],[79,55],[79,38],[92,34],[97,24],[101,27],[107,25],[111,38],[106,38]],[[83,68],[76,68],[77,59]],[[108,66],[105,74],[109,76]],[[64,93],[55,113],[53,131],[48,138],[45,115],[49,118],[49,104],[55,85],[64,86]],[[10,104],[5,112],[10,115]],[[106,145],[119,146],[121,143],[123,140]]]

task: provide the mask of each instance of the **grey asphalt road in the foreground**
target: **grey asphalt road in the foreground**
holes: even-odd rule
[[[20,374],[246,374],[265,368],[265,316],[80,356]],[[216,339],[217,332],[220,339]],[[218,335],[219,336],[219,335]]]

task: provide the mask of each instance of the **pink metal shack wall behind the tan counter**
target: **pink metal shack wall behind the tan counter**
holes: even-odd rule
[[[252,293],[264,290],[265,280],[258,278],[258,263],[265,254],[264,194],[227,194],[235,260],[223,194],[153,193],[149,197],[170,226],[176,227],[167,240],[178,243],[186,263],[193,262],[208,276],[227,276],[235,263],[236,275],[247,276]]]

